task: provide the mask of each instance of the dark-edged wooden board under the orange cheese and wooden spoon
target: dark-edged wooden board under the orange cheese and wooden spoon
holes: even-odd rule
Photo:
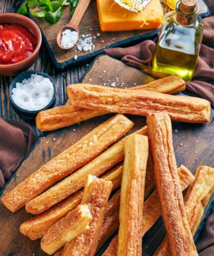
[[[198,0],[200,7],[200,16],[208,16],[209,10],[203,0]],[[80,34],[91,34],[94,39],[95,48],[91,52],[79,52],[76,46],[70,50],[63,50],[57,45],[57,34],[59,30],[70,20],[70,6],[64,8],[61,19],[55,24],[48,24],[43,18],[29,16],[39,25],[43,41],[48,49],[49,56],[57,69],[68,68],[87,62],[98,54],[102,53],[104,48],[118,47],[131,43],[137,43],[145,39],[152,38],[159,32],[155,30],[139,30],[124,32],[102,32],[99,27],[96,0],[92,0],[79,26]],[[97,36],[99,35],[99,36]],[[77,59],[74,59],[74,56]]]

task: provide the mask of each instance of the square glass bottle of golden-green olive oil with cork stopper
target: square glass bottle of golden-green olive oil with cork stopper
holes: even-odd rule
[[[192,80],[203,36],[203,20],[198,12],[197,0],[180,0],[176,11],[165,15],[154,71],[177,74],[185,81]]]

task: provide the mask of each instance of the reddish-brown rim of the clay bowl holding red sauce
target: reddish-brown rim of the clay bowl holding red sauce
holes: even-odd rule
[[[17,62],[17,63],[13,63],[13,64],[0,64],[0,68],[14,68],[14,67],[17,67],[17,66],[19,66],[19,65],[22,65],[22,64],[24,64],[26,61],[28,61],[28,60],[30,60],[30,59],[32,59],[32,58],[34,58],[36,55],[37,55],[37,53],[38,53],[38,51],[39,51],[39,49],[40,49],[40,47],[41,47],[41,44],[42,44],[42,34],[41,34],[41,31],[40,31],[40,29],[39,29],[39,26],[36,24],[36,22],[34,22],[32,19],[30,19],[29,17],[26,17],[26,16],[24,16],[24,15],[21,15],[21,14],[18,14],[18,13],[0,13],[0,17],[5,17],[5,16],[11,16],[11,17],[20,17],[21,19],[23,19],[23,20],[28,20],[35,28],[36,28],[36,30],[38,31],[38,38],[37,38],[37,45],[36,45],[36,48],[34,49],[34,51],[33,51],[33,53],[32,53],[32,55],[30,55],[28,58],[26,58],[26,59],[24,59],[24,60],[22,60],[22,61],[19,61],[19,62]],[[9,22],[10,23],[10,22]],[[17,23],[17,22],[12,22],[11,24],[13,24],[13,23]],[[0,24],[3,24],[2,22],[0,22]],[[18,24],[18,23],[17,23]],[[28,30],[30,30],[28,27],[26,27],[26,26],[24,26],[23,25],[23,27],[25,27],[26,29],[28,29]],[[31,30],[30,30],[31,31]],[[31,31],[32,32],[32,31]],[[32,32],[33,33],[33,32]],[[34,34],[34,33],[33,33]],[[36,36],[36,35],[35,35]]]

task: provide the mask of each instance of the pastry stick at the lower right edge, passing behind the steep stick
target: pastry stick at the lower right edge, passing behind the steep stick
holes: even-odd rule
[[[192,235],[201,222],[204,209],[214,192],[214,169],[208,166],[199,166],[195,172],[195,180],[188,187],[184,195],[184,206]],[[155,252],[157,256],[170,256],[168,236]]]

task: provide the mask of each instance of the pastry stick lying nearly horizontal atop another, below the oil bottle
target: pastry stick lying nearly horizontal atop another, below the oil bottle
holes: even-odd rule
[[[210,119],[210,103],[202,98],[90,84],[69,85],[67,93],[70,104],[80,108],[140,116],[161,112],[172,120],[193,123]]]

